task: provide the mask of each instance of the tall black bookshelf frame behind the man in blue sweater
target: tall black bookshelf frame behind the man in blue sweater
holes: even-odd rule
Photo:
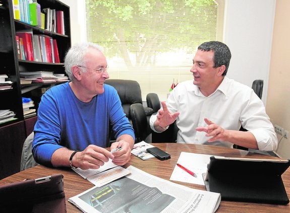
[[[50,8],[55,11],[63,11],[65,29],[65,34],[63,34],[45,30],[40,26],[32,26],[14,19],[12,2],[12,0],[0,0],[2,4],[2,6],[0,5],[0,75],[7,75],[8,79],[6,79],[6,81],[13,82],[12,89],[0,90],[0,110],[12,110],[17,119],[0,123],[1,146],[3,154],[6,156],[6,159],[0,156],[0,165],[7,164],[8,159],[12,158],[11,156],[15,157],[16,155],[16,160],[11,161],[11,165],[9,164],[6,166],[7,171],[5,171],[5,168],[2,168],[4,171],[2,170],[0,179],[19,171],[22,145],[25,138],[30,133],[26,132],[26,130],[31,129],[31,127],[27,126],[27,123],[34,125],[37,118],[36,116],[34,116],[34,118],[24,118],[22,97],[32,98],[35,109],[37,110],[41,95],[50,87],[63,83],[21,84],[20,71],[35,72],[41,70],[50,71],[53,72],[53,74],[65,74],[64,57],[71,46],[69,6],[57,0],[37,0],[41,10]],[[55,39],[60,62],[40,62],[19,59],[16,41],[16,32],[19,31],[30,31],[33,35],[44,35]],[[31,122],[31,119],[33,119],[33,122]],[[27,122],[28,120],[29,122]]]

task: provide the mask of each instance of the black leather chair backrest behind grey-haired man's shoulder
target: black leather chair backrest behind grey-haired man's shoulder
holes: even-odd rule
[[[139,83],[132,80],[108,79],[105,81],[105,84],[111,85],[117,90],[124,112],[126,116],[131,119],[131,104],[142,104],[142,95]]]

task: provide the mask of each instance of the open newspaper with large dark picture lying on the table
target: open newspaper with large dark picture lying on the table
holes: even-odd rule
[[[83,212],[215,212],[220,194],[189,188],[133,166],[131,174],[69,198]]]

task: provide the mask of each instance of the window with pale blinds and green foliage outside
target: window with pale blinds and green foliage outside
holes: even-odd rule
[[[196,48],[222,41],[223,1],[86,0],[87,40],[104,47],[110,79],[163,101],[173,82],[193,79]]]

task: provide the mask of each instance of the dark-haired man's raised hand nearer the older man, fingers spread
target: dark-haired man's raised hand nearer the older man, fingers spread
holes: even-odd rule
[[[171,114],[164,101],[161,102],[162,108],[158,110],[157,120],[154,122],[154,128],[157,131],[164,131],[164,127],[173,123],[179,116],[179,112]]]

